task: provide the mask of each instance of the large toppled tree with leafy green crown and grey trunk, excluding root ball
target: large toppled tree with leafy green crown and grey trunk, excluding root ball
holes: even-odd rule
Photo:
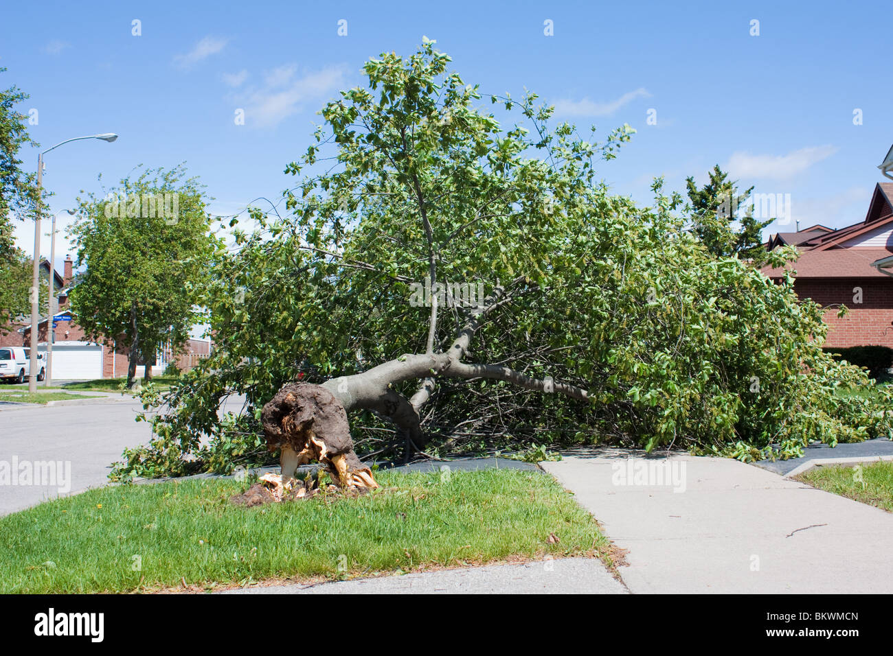
[[[378,457],[611,439],[749,460],[889,430],[839,394],[869,383],[822,353],[790,280],[711,253],[661,180],[652,207],[598,183],[629,127],[552,128],[536,95],[482,95],[448,62],[430,42],[382,54],[326,105],[286,215],[252,212],[213,261],[216,352],[146,392],[154,441],[113,477],[264,461],[268,402],[297,380]],[[244,412],[221,414],[230,394]]]

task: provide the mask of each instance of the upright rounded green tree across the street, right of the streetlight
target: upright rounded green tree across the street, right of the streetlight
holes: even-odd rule
[[[92,339],[129,349],[128,387],[138,360],[151,364],[165,343],[183,345],[201,319],[196,303],[220,246],[205,203],[203,187],[181,165],[143,170],[80,203],[71,237],[77,266],[87,270],[71,291],[71,309]]]

